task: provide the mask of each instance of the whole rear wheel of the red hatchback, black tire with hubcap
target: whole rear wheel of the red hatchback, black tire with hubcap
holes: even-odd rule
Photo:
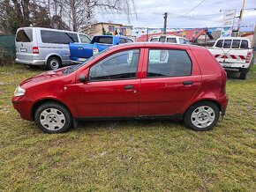
[[[202,112],[200,112],[199,107],[200,109],[203,109]],[[184,124],[187,128],[193,130],[206,131],[213,129],[219,121],[219,118],[220,109],[215,105],[215,103],[210,101],[200,101],[193,104],[186,111],[184,114]]]

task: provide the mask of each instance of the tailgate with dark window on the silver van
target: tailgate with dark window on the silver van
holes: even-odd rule
[[[20,28],[16,33],[16,55],[21,60],[33,54],[33,47],[36,47],[35,31],[33,28]]]

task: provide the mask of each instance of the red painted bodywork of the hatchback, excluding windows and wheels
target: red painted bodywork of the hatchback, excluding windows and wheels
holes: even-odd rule
[[[91,66],[108,55],[140,48],[136,79],[81,83]],[[186,50],[192,60],[192,76],[147,78],[148,48]],[[184,114],[193,103],[213,100],[226,109],[226,73],[206,48],[168,43],[134,43],[112,47],[92,62],[69,74],[64,69],[49,71],[20,84],[26,89],[22,97],[13,97],[14,108],[22,118],[33,120],[33,107],[43,100],[56,100],[68,107],[74,117],[120,117]],[[183,85],[192,81],[192,85]],[[125,85],[134,85],[124,90]]]

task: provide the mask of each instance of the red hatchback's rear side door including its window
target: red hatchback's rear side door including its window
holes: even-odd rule
[[[198,63],[190,50],[147,49],[141,79],[139,115],[173,115],[184,107],[201,85]]]

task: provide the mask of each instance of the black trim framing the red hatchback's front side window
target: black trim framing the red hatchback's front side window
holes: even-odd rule
[[[130,51],[130,50],[139,50],[139,58],[140,58],[141,48],[131,48],[131,49],[119,50],[119,51],[117,51],[117,52],[112,53],[112,55],[118,54],[118,53],[121,53],[121,52],[124,52],[124,51]],[[111,56],[111,55],[110,55],[110,56]],[[92,66],[90,66],[90,69],[89,69],[89,71],[88,71],[88,77],[87,77],[88,83],[102,82],[102,81],[119,81],[119,80],[132,80],[132,79],[137,79],[137,76],[138,76],[138,68],[139,68],[139,58],[138,58],[138,65],[137,65],[137,69],[136,69],[135,78],[117,78],[117,79],[99,79],[99,80],[91,80],[91,79],[90,79],[90,71],[91,71],[91,68],[92,68],[95,64],[104,62],[104,60],[105,60],[105,59],[108,59],[108,57],[109,57],[109,55],[107,55],[106,57],[102,58],[102,60],[100,60],[99,62],[94,63]]]

